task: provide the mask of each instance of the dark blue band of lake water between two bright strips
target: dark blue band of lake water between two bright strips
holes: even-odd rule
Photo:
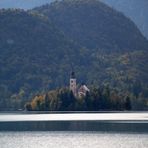
[[[147,133],[148,124],[98,121],[0,122],[0,131],[106,131]]]

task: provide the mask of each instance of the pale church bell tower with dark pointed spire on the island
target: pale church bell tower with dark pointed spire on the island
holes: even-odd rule
[[[74,96],[77,96],[77,83],[74,72],[70,75],[70,90],[73,92]]]

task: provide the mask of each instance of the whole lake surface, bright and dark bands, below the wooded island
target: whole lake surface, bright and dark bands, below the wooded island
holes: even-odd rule
[[[0,148],[148,148],[148,112],[1,113]]]

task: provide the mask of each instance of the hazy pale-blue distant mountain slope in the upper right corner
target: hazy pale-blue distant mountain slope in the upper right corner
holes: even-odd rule
[[[147,0],[101,0],[130,17],[141,32],[148,38],[148,1]]]

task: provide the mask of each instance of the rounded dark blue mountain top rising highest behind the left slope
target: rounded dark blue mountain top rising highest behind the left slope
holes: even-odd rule
[[[63,0],[35,8],[66,36],[90,49],[131,51],[147,49],[136,25],[98,0]]]

